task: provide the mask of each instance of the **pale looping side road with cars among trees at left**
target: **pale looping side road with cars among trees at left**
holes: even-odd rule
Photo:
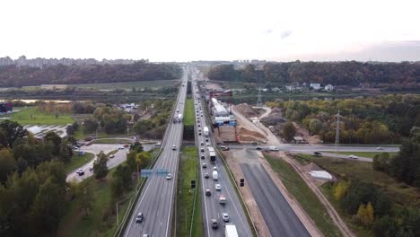
[[[103,152],[104,154],[109,154],[112,151],[118,150],[118,147],[121,147],[121,144],[92,144],[88,146],[82,146],[80,148],[81,151],[84,151],[86,153],[94,154],[95,156],[99,154],[100,152]],[[153,148],[153,145],[143,145],[144,151],[150,151]],[[76,153],[77,151],[74,151]],[[118,164],[125,162],[127,160],[127,153],[128,148],[123,150],[118,150],[116,154],[114,154],[114,158],[108,160],[108,169],[112,169],[116,167]],[[76,182],[80,182],[82,180],[85,180],[93,175],[93,171],[89,171],[91,167],[93,167],[93,162],[95,159],[92,159],[91,162],[87,162],[83,164],[81,167],[77,169],[81,169],[84,171],[84,174],[82,176],[79,176],[78,173],[76,173],[77,169],[74,171],[71,171],[69,174],[67,174],[66,181],[75,180]]]

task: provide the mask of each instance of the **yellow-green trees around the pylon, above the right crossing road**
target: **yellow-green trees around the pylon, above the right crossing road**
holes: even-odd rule
[[[340,143],[395,144],[420,126],[420,96],[393,94],[334,101],[271,101],[284,108],[285,117],[302,123],[312,135],[334,143],[337,112],[340,110]]]

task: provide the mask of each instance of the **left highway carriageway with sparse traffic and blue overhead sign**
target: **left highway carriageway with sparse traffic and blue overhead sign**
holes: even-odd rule
[[[184,105],[187,96],[188,68],[184,68],[182,84],[175,104],[175,114],[184,114]],[[166,128],[162,142],[162,154],[158,157],[153,169],[163,169],[171,173],[172,179],[166,180],[166,175],[153,175],[144,184],[144,189],[134,207],[133,215],[129,218],[124,236],[171,236],[173,218],[173,200],[176,194],[178,180],[179,148],[182,142],[182,121],[170,123]],[[172,150],[172,145],[176,150]],[[136,224],[136,215],[144,214],[144,220]]]

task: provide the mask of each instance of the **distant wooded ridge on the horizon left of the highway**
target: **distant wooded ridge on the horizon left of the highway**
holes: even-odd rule
[[[143,61],[131,65],[57,65],[44,68],[0,66],[0,86],[173,80],[181,74],[182,69],[176,64],[150,64]]]

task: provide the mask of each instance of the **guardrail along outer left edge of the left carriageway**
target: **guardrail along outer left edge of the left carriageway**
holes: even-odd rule
[[[158,160],[159,156],[162,154],[162,151],[163,151],[163,148],[162,147],[166,144],[166,139],[167,139],[169,130],[171,130],[172,118],[174,118],[175,108],[178,107],[180,90],[181,90],[181,88],[179,86],[179,93],[178,93],[178,96],[177,96],[177,100],[175,101],[175,104],[172,107],[172,111],[171,111],[171,119],[169,121],[171,123],[171,125],[168,126],[168,127],[166,127],[165,133],[163,134],[163,137],[162,137],[162,142],[161,142],[161,147],[159,149],[159,153],[156,154],[153,157],[153,162],[150,165],[150,167],[153,167],[154,166],[155,162]],[[117,230],[114,233],[114,236],[119,237],[119,236],[121,236],[121,233],[123,233],[126,230],[126,228],[127,228],[127,220],[129,219],[128,217],[133,214],[133,210],[134,210],[133,206],[136,204],[137,199],[140,197],[141,190],[143,189],[144,183],[146,181],[147,181],[147,178],[144,179],[140,184],[137,184],[137,186],[136,186],[136,194],[134,195],[133,198],[130,199],[130,202],[129,202],[129,204],[127,206],[127,209],[126,209],[126,214],[123,216],[123,220],[122,220],[121,224],[117,227]]]

